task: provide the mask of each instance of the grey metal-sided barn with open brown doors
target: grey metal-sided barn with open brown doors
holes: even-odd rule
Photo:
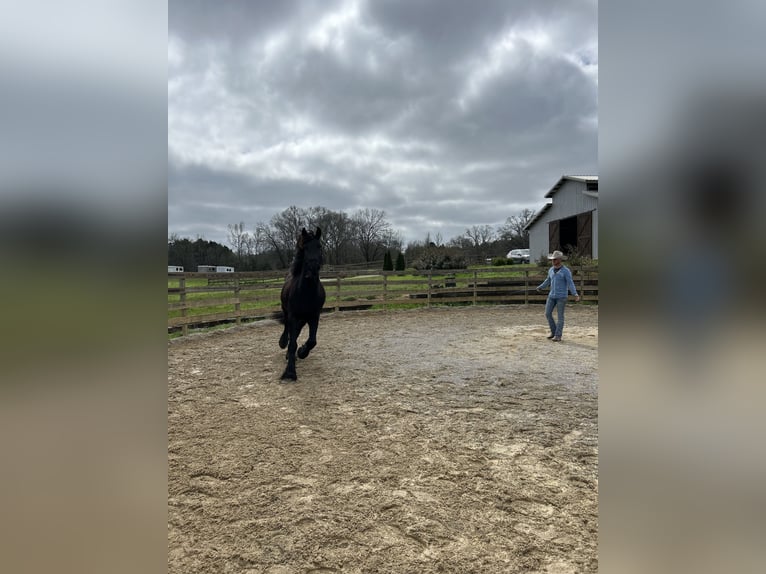
[[[598,176],[563,175],[545,198],[549,202],[524,228],[530,259],[556,249],[598,259]]]

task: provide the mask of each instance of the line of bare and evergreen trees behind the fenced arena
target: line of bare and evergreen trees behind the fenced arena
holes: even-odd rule
[[[173,234],[168,238],[168,265],[181,265],[186,271],[196,271],[198,265],[227,265],[237,271],[285,269],[292,261],[301,228],[320,227],[325,265],[384,261],[388,267],[396,261],[396,268],[461,268],[528,247],[524,226],[533,216],[534,212],[525,209],[497,228],[473,226],[448,241],[440,233],[427,233],[422,241],[405,246],[382,210],[359,209],[347,214],[324,207],[290,206],[250,229],[242,221],[229,224],[228,245]]]

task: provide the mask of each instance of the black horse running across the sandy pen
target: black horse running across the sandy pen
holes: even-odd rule
[[[301,229],[295,258],[282,286],[282,320],[285,330],[279,338],[279,347],[287,347],[287,367],[282,378],[291,381],[298,378],[295,372],[296,350],[298,357],[305,359],[317,344],[319,314],[325,300],[324,286],[319,280],[319,268],[322,266],[321,237],[322,230],[318,227],[316,233],[306,231],[305,227]],[[307,323],[309,338],[299,349],[298,336]]]

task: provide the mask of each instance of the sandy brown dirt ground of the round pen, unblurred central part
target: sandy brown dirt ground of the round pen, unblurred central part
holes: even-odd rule
[[[325,315],[168,343],[168,571],[596,572],[598,308]],[[303,333],[301,341],[307,333]]]

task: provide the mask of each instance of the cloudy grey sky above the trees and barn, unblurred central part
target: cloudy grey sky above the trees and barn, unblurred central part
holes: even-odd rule
[[[384,210],[405,243],[596,174],[595,0],[176,1],[168,233],[290,205]]]

